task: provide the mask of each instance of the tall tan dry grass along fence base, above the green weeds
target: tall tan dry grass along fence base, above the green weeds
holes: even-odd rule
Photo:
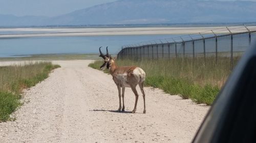
[[[239,57],[233,58],[234,65],[239,61]],[[119,60],[118,65],[137,65],[144,69],[147,75],[152,76],[172,76],[188,79],[193,83],[204,86],[206,84],[215,85],[219,88],[223,86],[231,72],[230,58],[222,57],[216,64],[215,57],[204,58],[173,58],[170,60]]]

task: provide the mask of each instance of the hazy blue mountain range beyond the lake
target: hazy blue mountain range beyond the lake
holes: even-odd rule
[[[119,0],[56,17],[0,15],[0,25],[252,22],[255,9],[249,1]]]

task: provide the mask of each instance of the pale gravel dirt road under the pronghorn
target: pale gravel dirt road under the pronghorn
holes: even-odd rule
[[[0,142],[190,142],[209,106],[196,105],[161,90],[125,90],[125,112],[111,75],[94,70],[91,61],[55,61],[61,68],[25,91],[16,121],[0,123]]]

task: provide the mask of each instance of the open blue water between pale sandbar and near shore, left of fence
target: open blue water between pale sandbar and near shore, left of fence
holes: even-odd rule
[[[125,44],[179,36],[181,35],[0,38],[0,57],[47,53],[98,53],[100,46],[109,46],[110,53],[115,54]],[[105,48],[102,48],[102,51],[105,52]]]

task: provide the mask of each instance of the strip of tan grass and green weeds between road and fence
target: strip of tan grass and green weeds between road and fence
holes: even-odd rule
[[[237,63],[239,57],[233,58]],[[211,105],[231,73],[230,58],[174,58],[171,60],[118,60],[118,66],[136,65],[146,72],[145,85],[183,99]],[[89,66],[99,69],[102,61]],[[235,65],[235,64],[234,64]]]

